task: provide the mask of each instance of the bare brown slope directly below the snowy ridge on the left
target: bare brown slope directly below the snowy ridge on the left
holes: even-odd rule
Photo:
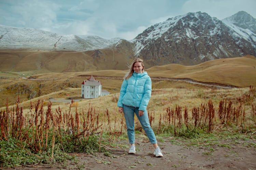
[[[132,48],[132,47],[127,47]],[[125,48],[126,49],[126,48]],[[126,69],[133,54],[119,48],[83,52],[29,52],[0,50],[0,71],[79,72],[106,69]]]

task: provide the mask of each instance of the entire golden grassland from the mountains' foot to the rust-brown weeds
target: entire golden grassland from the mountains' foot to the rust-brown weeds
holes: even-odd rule
[[[195,66],[182,66],[169,64],[165,66],[155,66],[146,69],[148,75],[165,78],[190,78],[200,82],[215,82],[226,85],[238,86],[239,88],[223,89],[205,85],[191,84],[181,80],[160,80],[152,79],[152,97],[148,104],[148,111],[155,114],[156,118],[166,112],[168,107],[180,105],[185,106],[191,112],[193,107],[199,107],[201,103],[207,103],[211,99],[218,106],[220,100],[231,100],[236,102],[237,98],[248,93],[249,86],[256,86],[256,58],[245,56],[237,58],[218,59],[208,61]],[[9,105],[15,103],[18,91],[23,113],[29,112],[30,102],[33,104],[38,100],[43,101],[44,110],[47,109],[49,98],[57,101],[66,100],[69,97],[78,99],[74,104],[79,113],[86,112],[92,106],[99,113],[104,113],[106,109],[110,113],[117,113],[116,102],[119,96],[122,77],[127,70],[100,70],[86,72],[67,73],[43,73],[44,70],[27,72],[1,72],[0,101],[4,109],[6,99]],[[100,80],[102,88],[110,91],[111,95],[97,99],[81,98],[81,83],[89,77],[81,75],[95,75],[96,80]],[[23,79],[28,77],[32,79]],[[97,77],[101,76],[101,77]],[[19,87],[19,88],[17,88]],[[40,96],[29,100],[27,91],[40,91]],[[255,103],[255,101],[253,101]],[[53,111],[60,107],[62,111],[68,111],[69,104],[53,102]],[[245,106],[246,113],[250,114],[250,106]],[[74,111],[73,111],[74,113]],[[155,122],[155,126],[157,122]]]

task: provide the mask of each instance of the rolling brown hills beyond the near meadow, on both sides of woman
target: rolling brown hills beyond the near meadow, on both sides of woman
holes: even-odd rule
[[[74,66],[75,67],[75,66]],[[125,66],[126,67],[126,66]],[[188,88],[196,89],[203,85],[192,85],[184,81],[157,80],[154,77],[189,78],[200,82],[213,82],[238,87],[256,86],[256,58],[244,56],[208,61],[195,66],[169,64],[146,68],[152,77],[153,89]],[[122,78],[127,70],[100,70],[83,72],[56,73],[48,70],[32,70],[23,72],[0,72],[0,106],[4,106],[6,99],[10,104],[15,102],[17,95],[21,101],[28,101],[40,96],[68,98],[79,97],[81,83],[89,75],[95,75],[100,80],[102,88],[111,94],[118,94]],[[87,75],[82,77],[81,75]],[[97,77],[100,76],[100,77]],[[22,77],[29,77],[24,79]],[[72,92],[65,91],[71,88]],[[206,87],[209,88],[209,87]],[[64,90],[64,91],[63,91]]]

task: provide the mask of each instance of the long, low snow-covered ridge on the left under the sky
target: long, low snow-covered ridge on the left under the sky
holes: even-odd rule
[[[106,48],[121,38],[110,40],[98,36],[59,35],[32,28],[0,25],[0,49],[30,51],[88,51]]]

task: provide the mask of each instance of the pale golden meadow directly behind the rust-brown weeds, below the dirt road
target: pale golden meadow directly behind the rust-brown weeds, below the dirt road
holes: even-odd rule
[[[161,82],[167,83],[168,82]],[[179,82],[177,82],[178,84]],[[176,85],[177,85],[176,84]],[[147,110],[150,114],[154,115],[155,120],[159,120],[160,115],[164,115],[166,113],[166,109],[175,108],[176,105],[182,107],[182,112],[185,106],[188,109],[188,113],[191,117],[191,110],[193,107],[200,107],[201,104],[208,103],[209,100],[213,101],[215,111],[217,113],[217,108],[219,101],[227,100],[232,101],[234,106],[238,105],[239,98],[242,98],[244,94],[248,94],[249,88],[233,88],[233,89],[212,89],[209,87],[203,87],[198,85],[190,85],[182,83],[182,86],[185,88],[180,88],[179,86],[173,88],[159,88],[152,90],[152,97],[148,104]],[[172,84],[174,85],[174,84]],[[35,99],[27,100],[22,102],[20,105],[23,107],[23,113],[30,115],[30,102],[35,105],[35,103],[40,99],[43,101],[44,104],[44,111],[47,110],[47,103],[49,103],[48,98],[54,96],[54,98],[58,99],[65,99],[65,94],[74,94],[74,96],[79,95],[80,88],[69,88],[64,89],[58,92],[53,92],[48,95],[44,95],[42,97],[38,97]],[[108,109],[111,115],[119,114],[118,107],[116,106],[117,99],[118,99],[118,92],[115,94],[111,94],[109,96],[103,96],[96,99],[80,99],[73,103],[73,106],[77,107],[78,113],[87,113],[90,107],[94,108],[96,113],[100,113],[100,115],[104,115],[106,110]],[[252,103],[256,103],[255,99]],[[52,111],[55,112],[58,107],[61,108],[62,112],[69,112],[70,103],[60,103],[60,102],[53,102],[52,103]],[[246,122],[253,123],[252,120],[249,120],[251,116],[251,105],[244,105],[244,110],[246,113]],[[4,109],[4,107],[2,108]],[[33,112],[34,110],[32,110]],[[71,113],[75,115],[75,107],[72,107]],[[113,118],[113,117],[112,117]],[[102,119],[104,119],[102,117]],[[114,122],[114,121],[113,121]],[[152,123],[152,127],[157,128],[158,121]]]

